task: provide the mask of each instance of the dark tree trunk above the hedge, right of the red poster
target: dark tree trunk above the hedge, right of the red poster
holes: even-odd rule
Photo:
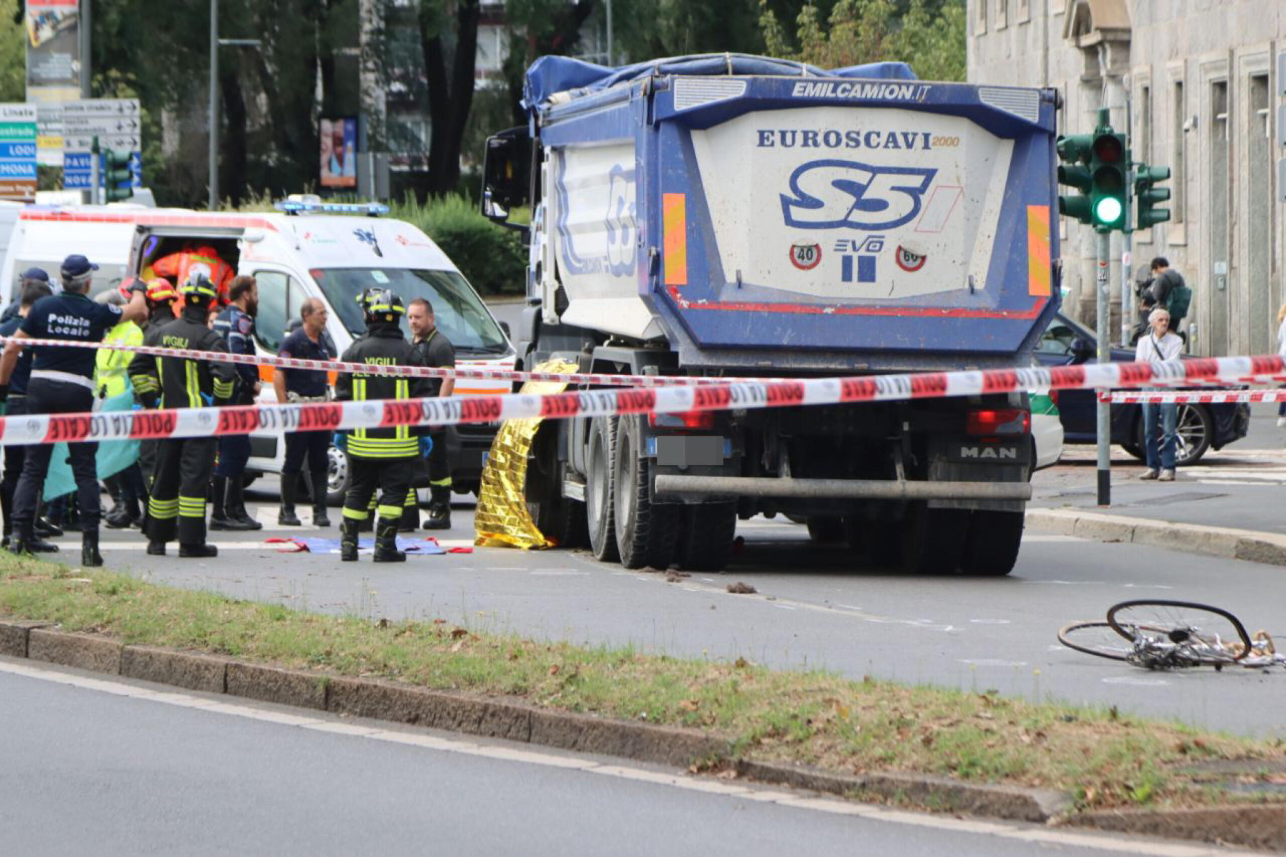
[[[473,106],[478,45],[478,0],[421,0],[419,41],[428,81],[426,192],[440,197],[460,181],[460,142]]]

